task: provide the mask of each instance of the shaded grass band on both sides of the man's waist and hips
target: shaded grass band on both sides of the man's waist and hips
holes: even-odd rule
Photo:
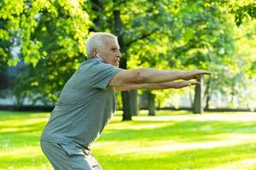
[[[136,126],[158,122],[137,121]],[[162,123],[162,122],[161,122]],[[0,145],[3,144],[28,144],[37,142],[44,128],[44,122],[31,123],[17,126],[20,130],[0,133]],[[125,128],[125,126],[124,126]],[[179,142],[218,140],[221,134],[256,134],[255,124],[232,122],[172,122],[163,127],[150,127],[144,129],[109,129],[103,133],[98,141],[137,141],[137,140],[165,140],[173,139]]]

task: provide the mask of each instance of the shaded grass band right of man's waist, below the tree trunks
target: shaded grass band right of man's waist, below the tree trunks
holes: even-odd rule
[[[135,122],[139,126],[143,121]],[[147,123],[149,123],[147,121]],[[151,122],[153,124],[157,122]],[[108,133],[103,133],[99,141],[126,141],[126,140],[162,140],[180,139],[187,142],[198,140],[209,140],[216,138],[216,134],[224,133],[255,133],[256,127],[253,122],[172,122],[163,127],[142,128],[142,129],[108,129]],[[215,137],[214,137],[215,136]]]

